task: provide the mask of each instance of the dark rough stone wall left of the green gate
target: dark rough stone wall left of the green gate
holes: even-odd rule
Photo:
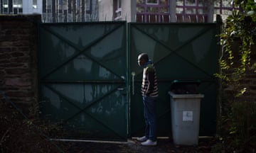
[[[5,95],[25,111],[38,101],[37,27],[40,21],[40,15],[0,16],[0,98],[6,101]]]

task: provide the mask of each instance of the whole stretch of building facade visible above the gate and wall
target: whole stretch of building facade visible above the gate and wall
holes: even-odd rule
[[[2,14],[40,13],[43,22],[210,23],[228,16],[230,0],[0,0]]]

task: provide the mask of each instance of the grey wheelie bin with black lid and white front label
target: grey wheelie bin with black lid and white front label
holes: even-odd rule
[[[198,94],[200,81],[178,81],[171,85],[171,128],[175,145],[198,145],[200,106],[203,94]]]

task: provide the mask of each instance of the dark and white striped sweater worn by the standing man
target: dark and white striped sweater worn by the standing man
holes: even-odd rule
[[[143,69],[142,96],[158,96],[156,69],[151,61],[146,63]]]

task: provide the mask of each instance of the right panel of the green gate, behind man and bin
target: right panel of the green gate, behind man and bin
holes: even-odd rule
[[[201,80],[200,135],[214,135],[218,83],[218,50],[215,23],[129,23],[130,135],[144,134],[143,104],[140,92],[142,68],[137,55],[148,53],[159,80],[158,136],[171,135],[171,82]],[[132,74],[135,74],[132,77]]]

